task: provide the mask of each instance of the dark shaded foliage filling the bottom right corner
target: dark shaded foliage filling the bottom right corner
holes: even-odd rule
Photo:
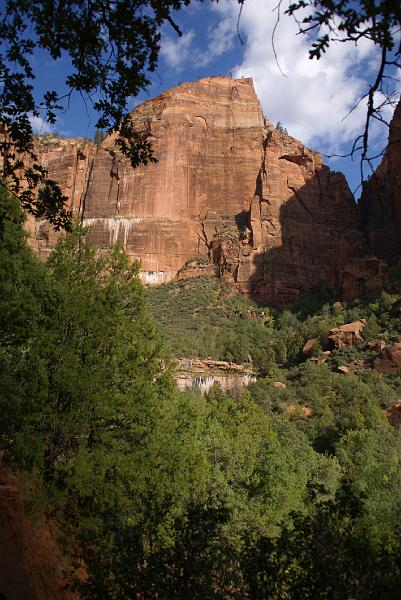
[[[399,528],[376,546],[361,527],[363,497],[345,482],[336,498],[295,515],[276,539],[250,543],[243,557],[249,597],[395,600],[399,596]]]

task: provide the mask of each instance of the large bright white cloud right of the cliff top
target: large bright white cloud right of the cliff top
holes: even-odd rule
[[[246,46],[234,76],[253,77],[265,114],[273,123],[281,121],[291,135],[323,152],[339,152],[363,129],[366,102],[351,109],[367,91],[366,76],[378,60],[377,48],[364,39],[358,45],[332,44],[319,61],[310,60],[311,40],[297,35],[297,24],[282,15],[275,34],[278,66],[272,48],[276,22],[272,7],[267,1],[246,0],[240,20]],[[216,10],[221,15],[220,30],[231,29],[235,37],[238,3],[221,0]],[[385,116],[391,116],[390,109]],[[372,134],[379,130],[387,135],[376,126]]]

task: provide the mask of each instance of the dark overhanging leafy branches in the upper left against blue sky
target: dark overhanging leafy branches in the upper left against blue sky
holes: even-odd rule
[[[133,166],[154,160],[150,144],[127,117],[127,100],[146,88],[155,70],[160,27],[190,0],[7,0],[0,9],[0,148],[2,178],[36,217],[65,227],[66,198],[38,164],[30,117],[56,122],[79,94],[98,113],[96,127],[119,131],[121,151]],[[34,93],[34,52],[57,61],[66,56],[67,92]],[[39,194],[35,189],[40,186]]]

